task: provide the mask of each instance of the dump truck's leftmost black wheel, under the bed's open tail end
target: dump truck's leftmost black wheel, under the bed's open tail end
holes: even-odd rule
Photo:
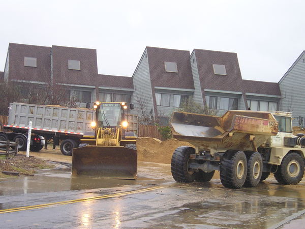
[[[171,173],[176,182],[190,183],[195,181],[196,171],[188,167],[190,154],[195,154],[195,149],[192,147],[178,147],[172,156]]]

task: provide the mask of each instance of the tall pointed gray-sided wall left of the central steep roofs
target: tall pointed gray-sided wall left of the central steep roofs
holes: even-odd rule
[[[151,91],[151,82],[149,75],[148,56],[145,49],[142,58],[132,76],[134,84],[134,93],[131,97],[131,103],[134,104],[135,109],[131,113],[141,117],[141,109],[139,100],[146,102],[145,113],[149,114],[150,110],[154,111],[153,92]]]

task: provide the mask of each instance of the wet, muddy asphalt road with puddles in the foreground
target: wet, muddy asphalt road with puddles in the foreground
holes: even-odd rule
[[[2,210],[34,206],[0,211],[1,228],[305,227],[305,180],[282,186],[270,177],[238,190],[224,188],[217,177],[205,184],[178,184],[168,164],[140,162],[136,181],[71,178],[63,164],[34,177],[0,180],[0,195]],[[71,200],[78,201],[37,206]]]

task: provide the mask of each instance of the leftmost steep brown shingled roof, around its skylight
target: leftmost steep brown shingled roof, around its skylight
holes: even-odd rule
[[[47,81],[51,75],[50,51],[50,47],[10,43],[10,80]],[[25,56],[37,58],[37,67],[25,67]]]

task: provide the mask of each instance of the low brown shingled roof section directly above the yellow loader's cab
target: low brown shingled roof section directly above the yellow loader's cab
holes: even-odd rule
[[[133,82],[132,77],[128,76],[99,74],[97,78],[97,86],[133,89]]]

